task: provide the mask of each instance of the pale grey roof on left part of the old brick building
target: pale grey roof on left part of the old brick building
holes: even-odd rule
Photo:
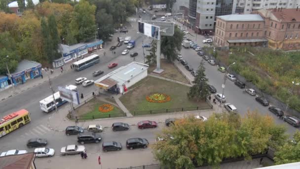
[[[263,21],[262,16],[259,14],[231,14],[217,16],[217,18],[221,18],[225,21]]]

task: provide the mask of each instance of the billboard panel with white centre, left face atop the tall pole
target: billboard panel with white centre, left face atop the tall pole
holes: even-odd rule
[[[148,37],[159,40],[159,27],[139,21],[139,32]]]

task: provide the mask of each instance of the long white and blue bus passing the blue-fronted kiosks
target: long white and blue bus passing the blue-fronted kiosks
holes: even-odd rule
[[[81,71],[87,67],[93,66],[96,63],[100,62],[100,57],[98,54],[93,54],[87,58],[81,59],[72,64],[75,71]]]

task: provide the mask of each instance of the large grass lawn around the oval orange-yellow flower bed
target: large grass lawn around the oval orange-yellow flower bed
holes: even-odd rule
[[[189,100],[187,96],[187,92],[189,90],[188,86],[161,80],[158,78],[147,77],[131,88],[134,89],[123,95],[120,98],[120,101],[132,114],[134,111],[180,108],[178,110],[173,110],[174,112],[181,111],[181,108],[183,107],[209,107],[208,103],[206,103],[205,101],[197,102],[196,100]],[[166,103],[148,102],[146,100],[146,96],[153,93],[164,93],[170,95],[171,100]],[[172,110],[170,110],[170,112],[171,111]]]

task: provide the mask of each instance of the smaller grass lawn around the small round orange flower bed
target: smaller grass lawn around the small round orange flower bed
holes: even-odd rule
[[[107,113],[99,112],[99,107],[106,102],[100,101],[97,98],[93,98],[88,101],[86,104],[75,109],[75,115],[79,120],[90,120],[90,119],[103,119],[103,118],[112,118],[112,117],[121,117],[124,116],[124,113],[118,107],[113,106],[113,110]]]

